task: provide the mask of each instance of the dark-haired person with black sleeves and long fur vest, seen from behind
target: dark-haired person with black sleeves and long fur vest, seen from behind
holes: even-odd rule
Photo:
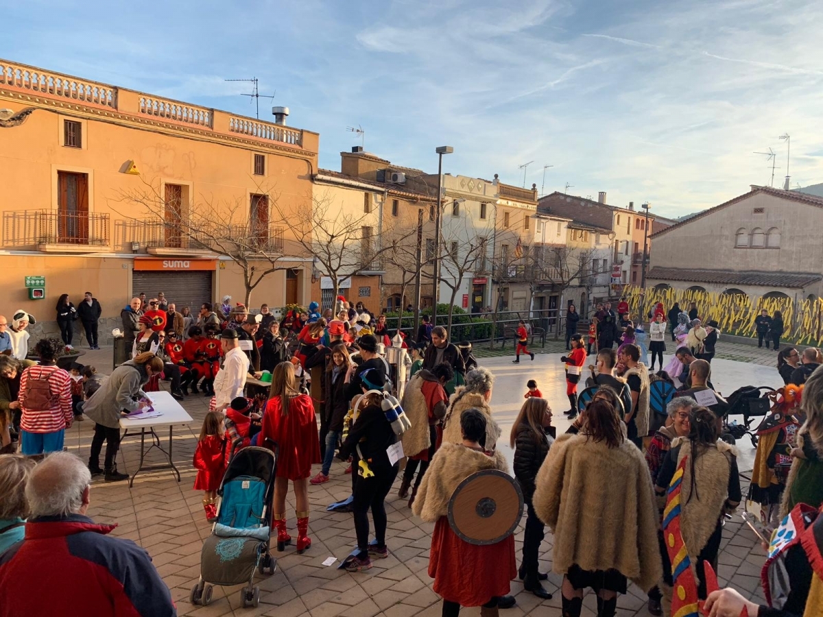
[[[658,473],[655,486],[658,495],[666,494],[684,458],[680,527],[690,562],[696,564],[697,594],[703,600],[707,595],[704,564],[711,564],[717,572],[723,515],[733,513],[742,499],[737,448],[718,439],[714,413],[706,407],[698,406],[689,412],[687,437],[672,439],[672,449],[663,459]],[[663,569],[663,607],[666,609],[672,597],[672,566],[668,553],[663,555]]]

